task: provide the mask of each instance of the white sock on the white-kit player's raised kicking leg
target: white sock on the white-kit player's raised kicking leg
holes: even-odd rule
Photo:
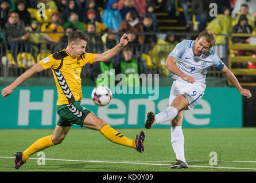
[[[169,106],[167,109],[156,114],[156,121],[154,122],[154,124],[161,124],[162,122],[170,121],[174,117],[176,117],[177,114],[178,114],[177,109],[173,108],[172,106]]]

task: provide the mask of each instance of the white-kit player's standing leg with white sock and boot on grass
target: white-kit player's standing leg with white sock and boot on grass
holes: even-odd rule
[[[184,136],[182,131],[184,110],[181,110],[172,121],[170,121],[171,143],[174,153],[176,154],[176,162],[170,166],[171,169],[188,168],[184,155]]]

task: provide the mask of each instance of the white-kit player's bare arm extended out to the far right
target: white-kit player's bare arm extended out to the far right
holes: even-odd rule
[[[236,79],[235,75],[231,72],[230,69],[228,69],[226,65],[224,65],[223,69],[220,72],[227,77],[227,79],[236,87],[236,89],[238,89],[242,96],[245,96],[247,98],[251,97],[250,90],[242,88],[242,86],[238,82],[238,79]]]

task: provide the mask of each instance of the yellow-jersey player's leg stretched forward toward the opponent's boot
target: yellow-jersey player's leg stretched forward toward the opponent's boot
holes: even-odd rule
[[[141,131],[136,140],[131,140],[117,132],[106,121],[96,117],[93,113],[89,113],[84,119],[83,126],[86,128],[99,130],[111,142],[137,149],[138,152],[144,151],[143,141],[145,140],[145,133]]]

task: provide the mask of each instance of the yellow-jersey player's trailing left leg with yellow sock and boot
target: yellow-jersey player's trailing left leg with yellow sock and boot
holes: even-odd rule
[[[14,154],[15,156],[15,169],[19,169],[21,165],[23,165],[26,160],[34,153],[40,152],[46,148],[49,148],[53,145],[60,144],[65,136],[67,136],[71,126],[59,126],[56,125],[55,131],[51,136],[46,136],[39,138],[36,142],[29,146],[24,152],[17,152]]]

